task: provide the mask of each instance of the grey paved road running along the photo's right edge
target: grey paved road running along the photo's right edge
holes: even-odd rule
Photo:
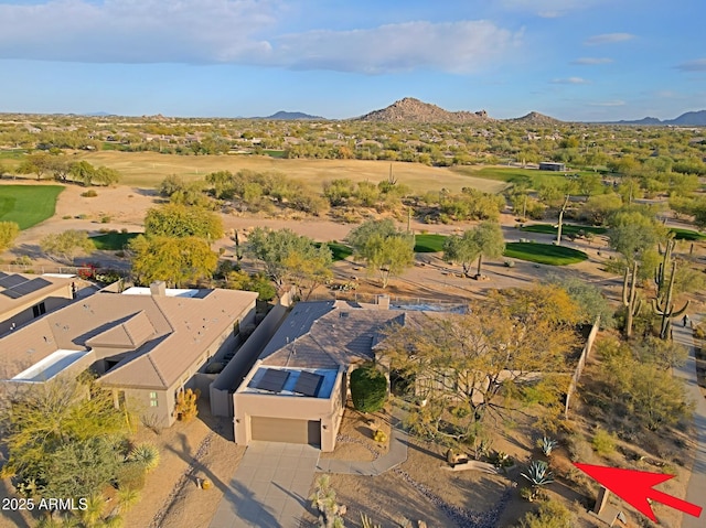
[[[698,322],[699,316],[695,316]],[[706,509],[706,398],[702,396],[696,378],[696,357],[694,338],[691,328],[682,326],[681,322],[674,325],[674,341],[682,343],[689,349],[686,364],[675,370],[675,375],[684,378],[687,385],[687,395],[696,405],[694,410],[694,430],[696,434],[696,457],[692,468],[692,477],[686,488],[686,500]],[[706,526],[706,511],[696,518],[684,515],[682,528],[704,528]]]

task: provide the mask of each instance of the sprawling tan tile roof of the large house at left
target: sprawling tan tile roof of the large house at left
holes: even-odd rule
[[[0,379],[12,378],[56,349],[93,348],[98,359],[131,353],[101,384],[167,388],[243,319],[256,299],[255,292],[232,290],[205,290],[196,298],[96,293],[0,338]]]

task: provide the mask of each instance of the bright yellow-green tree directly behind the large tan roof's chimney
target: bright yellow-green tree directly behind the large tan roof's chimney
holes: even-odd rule
[[[132,274],[141,284],[156,280],[176,288],[195,284],[210,279],[218,266],[218,255],[199,237],[140,235],[128,247],[132,254]]]

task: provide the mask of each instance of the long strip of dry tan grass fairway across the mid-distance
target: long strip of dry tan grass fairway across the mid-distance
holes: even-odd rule
[[[312,188],[321,191],[321,182],[349,177],[360,182],[379,182],[389,175],[387,161],[363,160],[280,160],[264,155],[176,155],[156,152],[82,152],[76,155],[94,165],[107,165],[122,174],[122,184],[154,187],[171,174],[186,181],[202,180],[215,171],[237,172],[278,171],[301,180]],[[420,163],[393,163],[393,174],[399,183],[417,193],[439,191],[441,187],[458,192],[461,187],[475,187],[496,193],[505,187],[504,182],[483,180],[447,168],[427,166]]]

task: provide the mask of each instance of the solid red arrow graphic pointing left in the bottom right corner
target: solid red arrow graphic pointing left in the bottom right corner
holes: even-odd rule
[[[674,478],[675,475],[664,475],[662,473],[650,473],[637,470],[621,470],[619,467],[591,464],[575,463],[574,465],[655,522],[657,518],[654,516],[654,511],[652,511],[649,499],[656,500],[670,508],[678,509],[694,517],[702,515],[703,508],[700,506],[673,497],[659,489],[653,489],[657,484]]]

